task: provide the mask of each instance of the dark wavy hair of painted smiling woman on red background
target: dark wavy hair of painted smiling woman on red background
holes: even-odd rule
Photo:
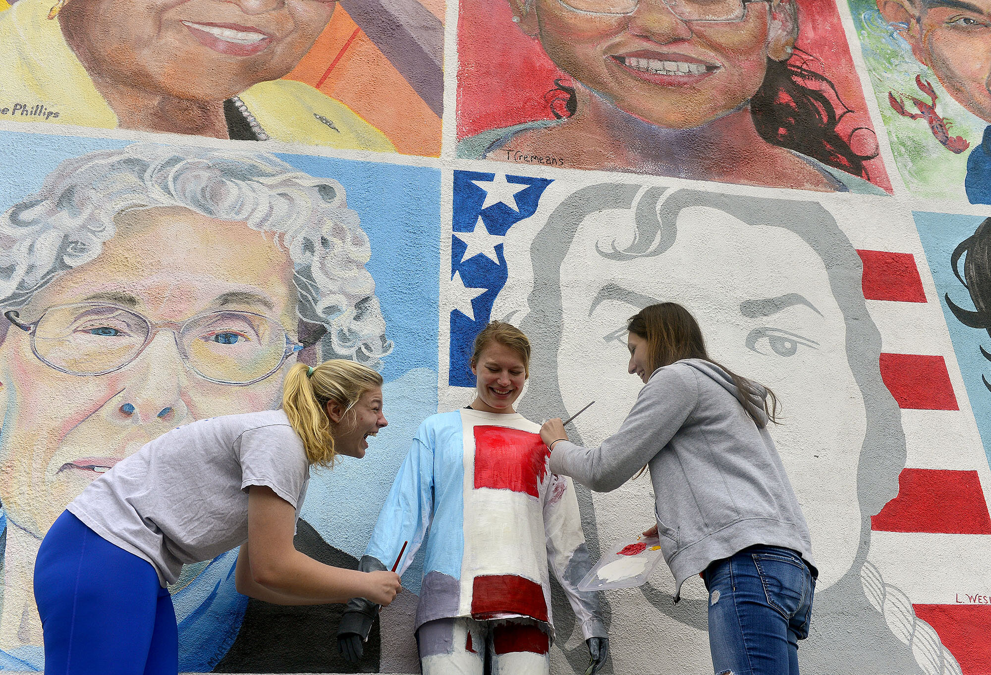
[[[877,150],[873,154],[858,154],[836,132],[836,126],[853,110],[843,103],[832,81],[810,67],[813,60],[811,54],[800,49],[787,61],[767,59],[764,82],[750,99],[750,114],[757,133],[769,144],[793,149],[847,173],[869,178],[864,162],[876,157]],[[561,78],[554,80],[554,84],[555,88],[544,95],[544,100],[557,119],[571,117],[578,109],[575,88]],[[826,90],[835,97],[838,113]],[[873,134],[859,127],[850,136],[858,131]]]

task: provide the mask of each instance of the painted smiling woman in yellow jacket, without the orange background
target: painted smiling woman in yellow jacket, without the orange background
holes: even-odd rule
[[[55,3],[55,4],[53,4]],[[54,122],[390,151],[343,103],[279,79],[334,0],[20,0],[0,13],[0,91]]]

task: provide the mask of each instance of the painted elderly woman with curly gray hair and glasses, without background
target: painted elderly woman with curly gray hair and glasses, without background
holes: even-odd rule
[[[96,476],[177,426],[277,408],[300,355],[380,366],[391,343],[370,256],[339,183],[267,154],[91,152],[3,214],[0,668],[43,668],[34,559]],[[298,533],[347,564],[302,521]],[[226,554],[187,567],[171,588],[183,671],[236,646],[252,610],[233,566]]]

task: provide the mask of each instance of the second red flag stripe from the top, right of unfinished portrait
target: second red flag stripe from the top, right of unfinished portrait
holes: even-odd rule
[[[942,356],[882,353],[880,367],[899,408],[959,410]]]

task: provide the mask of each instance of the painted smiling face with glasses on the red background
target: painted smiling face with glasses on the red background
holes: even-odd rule
[[[787,60],[798,34],[794,5],[779,0],[534,0],[519,23],[585,87],[669,129],[749,101],[768,59]]]

